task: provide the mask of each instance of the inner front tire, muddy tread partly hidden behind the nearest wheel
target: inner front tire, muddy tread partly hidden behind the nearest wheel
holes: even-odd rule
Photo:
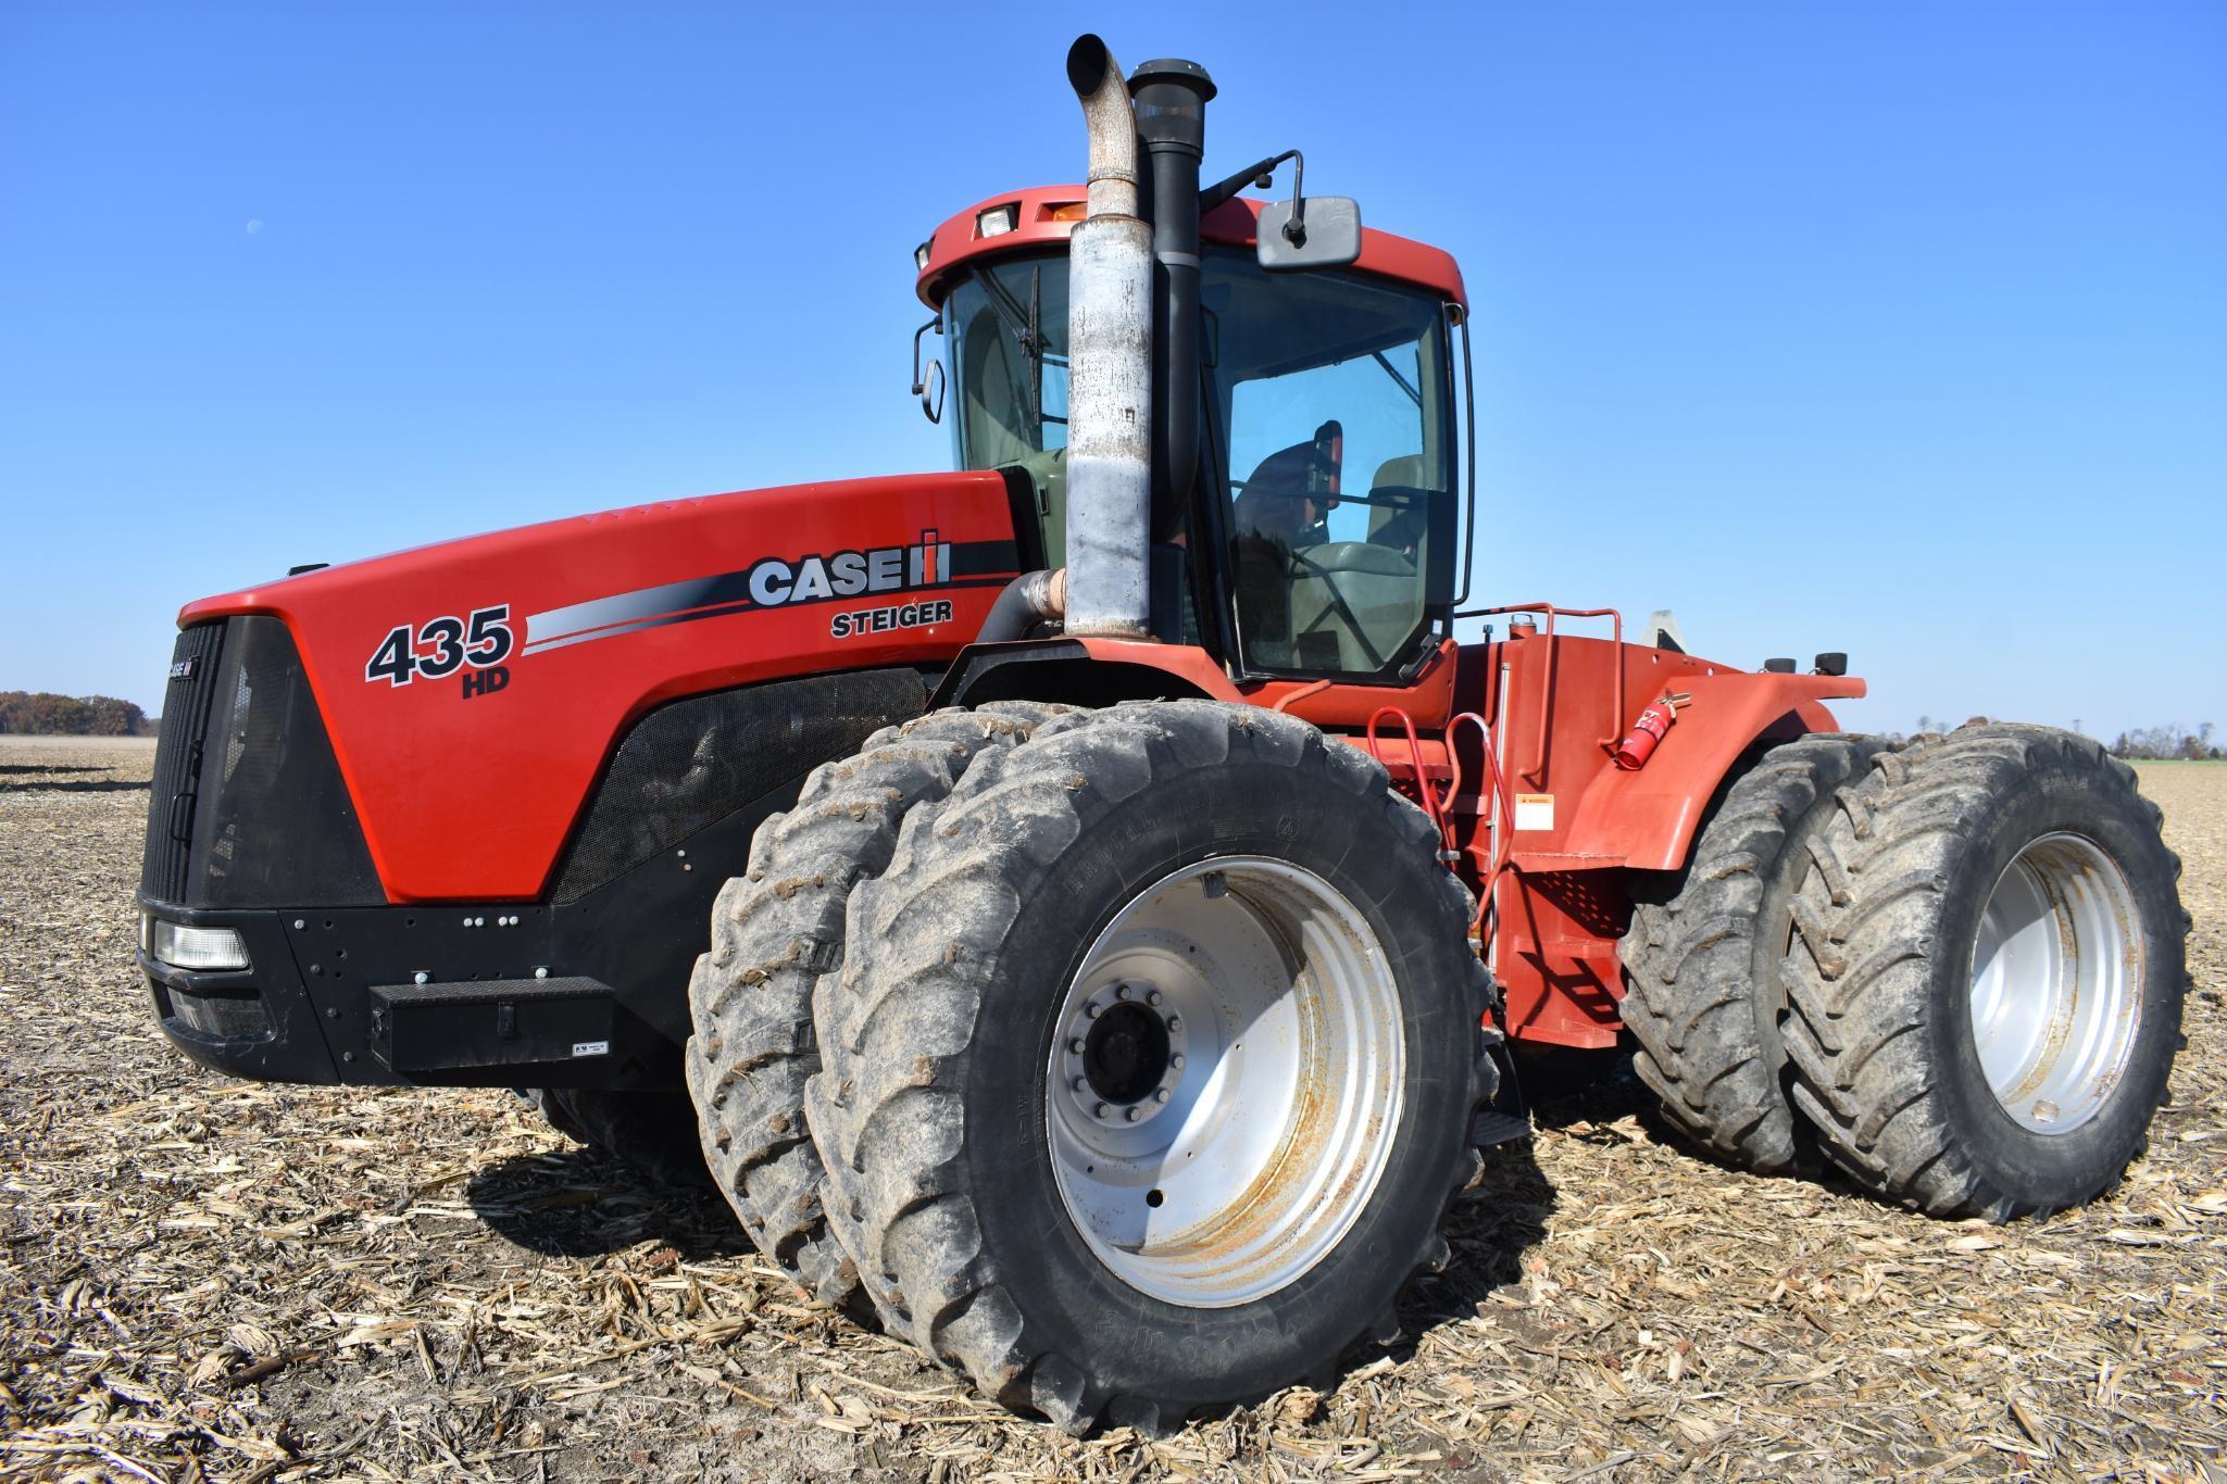
[[[750,1241],[824,1304],[851,1302],[857,1275],[822,1219],[804,1126],[804,1084],[820,1066],[813,981],[842,966],[844,903],[889,865],[904,812],[1060,710],[1016,701],[882,728],[813,770],[795,808],[757,828],[746,874],[719,890],[710,952],[688,981],[704,1161]]]

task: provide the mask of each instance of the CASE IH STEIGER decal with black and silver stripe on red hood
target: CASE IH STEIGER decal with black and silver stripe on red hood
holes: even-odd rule
[[[661,587],[639,587],[570,607],[526,616],[523,654],[543,654],[592,639],[617,639],[666,623],[724,619],[759,607],[842,603],[828,621],[831,639],[946,623],[951,603],[889,603],[853,607],[855,598],[918,592],[922,587],[1002,585],[1020,561],[1011,541],[920,541],[893,547],[764,556],[742,572],[693,576]]]

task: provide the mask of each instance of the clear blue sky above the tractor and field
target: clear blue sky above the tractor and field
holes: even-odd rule
[[[960,20],[964,16],[964,20]],[[0,687],[298,561],[949,461],[911,247],[1189,56],[1477,314],[1479,590],[2227,725],[2227,7],[0,4]]]

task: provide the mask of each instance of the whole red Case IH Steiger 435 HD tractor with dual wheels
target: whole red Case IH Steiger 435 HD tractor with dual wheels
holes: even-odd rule
[[[960,472],[185,607],[163,1030],[699,1146],[820,1299],[1073,1428],[1383,1337],[1525,1048],[1632,1046],[1719,1159],[1944,1217],[2109,1186],[2185,986],[2133,774],[1474,603],[1454,260],[1296,151],[1203,187],[1194,62],[1067,69],[1089,182],[915,251]]]

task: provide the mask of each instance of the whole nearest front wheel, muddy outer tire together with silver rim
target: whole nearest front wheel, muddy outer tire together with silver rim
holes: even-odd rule
[[[1327,1379],[1477,1164],[1468,919],[1430,821],[1298,721],[1138,703],[982,750],[853,877],[813,988],[866,1306],[1078,1431]]]

